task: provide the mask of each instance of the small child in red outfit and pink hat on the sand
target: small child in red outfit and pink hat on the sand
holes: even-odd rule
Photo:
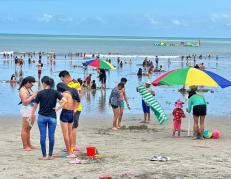
[[[173,133],[172,136],[175,136],[176,131],[178,131],[178,137],[180,137],[180,131],[181,131],[181,120],[182,118],[185,118],[185,114],[183,111],[183,104],[184,102],[177,100],[175,102],[175,108],[172,112],[173,115]]]

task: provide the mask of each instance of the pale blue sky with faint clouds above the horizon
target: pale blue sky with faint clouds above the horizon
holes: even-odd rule
[[[231,37],[231,0],[0,0],[0,33]]]

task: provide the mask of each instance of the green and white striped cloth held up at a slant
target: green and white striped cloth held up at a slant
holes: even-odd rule
[[[167,115],[165,114],[163,108],[158,103],[158,101],[155,99],[155,97],[150,94],[144,85],[139,86],[137,88],[138,92],[142,96],[144,102],[151,108],[151,110],[154,112],[156,119],[159,121],[160,124],[163,124],[165,121],[167,121]]]

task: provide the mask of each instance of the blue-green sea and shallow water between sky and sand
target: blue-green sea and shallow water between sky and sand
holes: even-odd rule
[[[108,105],[108,96],[114,86],[120,81],[121,77],[126,77],[128,83],[126,91],[129,97],[131,110],[125,109],[128,114],[142,114],[141,98],[136,92],[136,87],[145,81],[153,81],[162,73],[155,73],[152,77],[143,77],[138,79],[136,76],[138,68],[141,67],[142,61],[147,56],[154,60],[156,55],[160,56],[159,64],[163,65],[165,71],[185,67],[181,63],[179,56],[188,54],[211,54],[212,57],[199,60],[197,63],[205,63],[206,69],[220,74],[231,80],[231,39],[203,39],[201,38],[201,47],[156,47],[154,42],[157,41],[171,42],[197,42],[198,39],[188,38],[149,38],[149,37],[98,37],[98,36],[48,36],[48,35],[0,35],[0,52],[56,52],[57,60],[54,66],[47,63],[47,57],[43,56],[44,64],[42,75],[49,75],[60,82],[58,73],[61,70],[68,70],[74,78],[84,78],[84,72],[81,68],[73,68],[73,65],[81,65],[89,59],[83,59],[73,56],[65,58],[64,54],[68,52],[85,52],[87,54],[101,54],[102,58],[110,58],[112,63],[117,66],[116,59],[118,56],[125,62],[131,59],[132,63],[124,63],[123,67],[117,67],[115,71],[107,73],[107,90],[87,91],[82,99],[83,115],[108,115],[112,114]],[[108,55],[111,53],[112,55]],[[219,59],[216,60],[215,56]],[[89,56],[90,57],[90,56]],[[23,66],[23,75],[37,76],[36,64],[28,64],[28,57],[25,57]],[[35,60],[38,56],[34,57]],[[171,63],[168,63],[170,59]],[[5,80],[15,73],[13,59],[3,59],[0,55],[0,115],[17,115],[19,114],[19,97],[18,86],[12,87]],[[92,74],[92,79],[96,80],[99,86],[98,74],[94,68],[89,67],[88,73]],[[36,90],[37,87],[35,87]],[[175,100],[182,99],[186,101],[178,89],[180,87],[153,87],[156,92],[156,98],[165,109],[166,113],[171,113]],[[212,88],[213,92],[203,93],[209,102],[208,114],[211,115],[231,115],[229,103],[231,101],[231,88]],[[186,106],[185,106],[186,107]]]

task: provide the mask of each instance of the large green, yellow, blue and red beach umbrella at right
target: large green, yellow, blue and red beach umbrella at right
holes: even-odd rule
[[[171,70],[152,82],[157,85],[185,85],[208,86],[225,88],[231,86],[231,81],[207,70],[199,70],[193,67]]]

